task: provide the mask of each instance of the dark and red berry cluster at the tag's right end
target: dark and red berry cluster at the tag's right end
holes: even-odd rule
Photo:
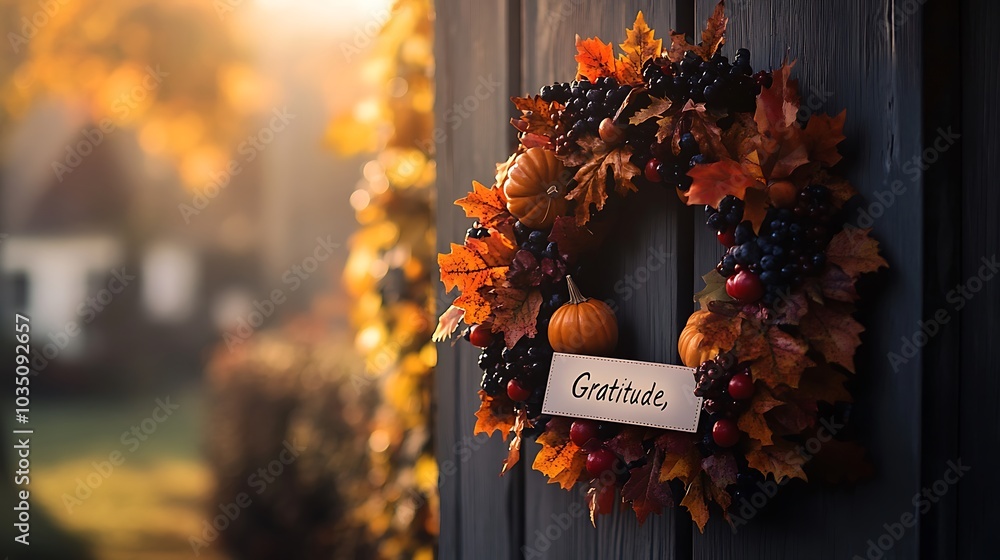
[[[736,421],[754,394],[750,368],[724,352],[699,365],[694,380],[694,394],[705,399],[700,421],[700,431],[705,434],[699,443],[701,452],[708,456],[739,443],[742,434]]]

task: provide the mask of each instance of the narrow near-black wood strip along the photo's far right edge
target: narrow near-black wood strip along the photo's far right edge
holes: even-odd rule
[[[1000,130],[1000,6],[969,1],[962,8],[962,272],[972,294],[978,288],[983,259],[1000,253],[1000,177],[997,131]],[[958,128],[958,127],[956,127]],[[950,185],[954,186],[954,185]],[[944,185],[940,185],[944,187]],[[995,265],[994,265],[995,266]],[[989,271],[984,271],[989,273]],[[985,278],[985,275],[983,276]],[[972,470],[958,483],[958,550],[955,558],[995,558],[992,544],[1000,498],[1000,278],[982,289],[959,311],[961,325],[961,404],[959,457]],[[955,309],[956,303],[949,309]],[[943,465],[941,466],[943,470]],[[940,473],[937,473],[940,477]]]

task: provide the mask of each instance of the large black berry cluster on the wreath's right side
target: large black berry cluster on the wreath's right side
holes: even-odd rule
[[[726,278],[739,275],[743,285],[759,283],[766,305],[822,273],[826,247],[839,226],[830,190],[822,185],[803,189],[792,207],[770,208],[757,234],[742,218],[743,202],[733,196],[718,210],[709,209],[709,227],[729,248],[717,270]]]

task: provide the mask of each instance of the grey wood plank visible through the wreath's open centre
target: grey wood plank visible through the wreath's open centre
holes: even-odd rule
[[[522,33],[525,92],[573,77],[576,34],[596,35],[617,44],[640,9],[650,26],[661,37],[667,36],[673,26],[672,3],[582,0],[525,3]],[[661,362],[675,359],[678,301],[687,305],[690,294],[690,273],[685,270],[681,279],[678,262],[690,260],[691,244],[690,226],[682,228],[674,221],[678,209],[673,192],[648,190],[630,196],[623,204],[625,218],[621,229],[609,240],[606,250],[587,263],[587,274],[581,275],[587,280],[582,286],[585,293],[613,300],[617,306],[622,356]],[[664,253],[665,259],[657,256]],[[666,262],[661,264],[660,260]],[[684,311],[684,317],[688,311]],[[532,443],[526,447],[525,464],[530,465],[538,447]],[[541,474],[529,470],[524,499],[525,544],[542,557],[677,558],[676,549],[685,548],[688,542],[687,524],[683,521],[678,542],[674,529],[677,517],[673,512],[653,516],[643,526],[639,526],[631,511],[619,512],[601,518],[597,529],[590,526],[586,515],[581,515],[573,519],[569,528],[560,528],[558,538],[542,538],[546,528],[556,524],[562,514],[580,511],[575,508],[582,504],[582,495],[547,485]]]

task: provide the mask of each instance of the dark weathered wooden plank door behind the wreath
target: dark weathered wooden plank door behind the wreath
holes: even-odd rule
[[[864,202],[892,268],[862,285],[867,327],[858,355],[855,414],[876,467],[873,480],[830,488],[791,483],[761,515],[733,531],[713,518],[700,534],[682,510],[640,526],[630,511],[595,529],[579,492],[564,492],[530,469],[533,443],[515,471],[497,478],[505,446],[472,437],[480,372],[468,345],[440,348],[438,457],[440,557],[713,559],[867,558],[906,512],[914,495],[941,478],[948,461],[969,464],[918,523],[892,536],[882,558],[986,558],[996,520],[997,484],[989,479],[1000,445],[1000,356],[995,342],[1000,289],[984,281],[976,299],[955,309],[949,291],[975,276],[997,251],[997,55],[995,3],[969,0],[732,0],[726,52],[745,46],[754,68],[799,61],[803,106],[847,109],[839,171]],[[469,226],[452,201],[473,179],[488,182],[493,164],[515,145],[505,123],[508,97],[570,79],[574,36],[617,40],[642,10],[660,36],[700,29],[715,0],[539,0],[437,3],[438,247]],[[696,24],[696,22],[698,22]],[[497,82],[489,95],[482,84]],[[477,87],[479,91],[477,93]],[[475,101],[472,101],[472,100]],[[473,110],[474,107],[474,110]],[[951,133],[949,133],[951,127]],[[955,134],[962,139],[954,141]],[[949,144],[925,151],[939,136]],[[971,139],[971,140],[970,140]],[[933,161],[931,161],[933,159]],[[991,161],[992,159],[992,161]],[[703,211],[669,192],[640,192],[626,202],[634,219],[595,263],[588,291],[618,303],[623,355],[677,363],[676,339],[692,310],[700,275],[720,257]],[[874,206],[873,206],[874,204]],[[877,215],[876,215],[877,214]],[[865,224],[867,225],[867,224]],[[630,241],[626,241],[630,240]],[[629,296],[616,281],[643,266],[650,247],[668,255]],[[441,305],[449,298],[441,295]],[[949,320],[905,364],[892,363],[904,340],[945,309]],[[960,358],[961,356],[961,358]],[[450,462],[450,463],[449,463]],[[992,465],[991,465],[992,463]],[[446,466],[447,465],[447,466]],[[539,550],[538,531],[565,520]],[[885,543],[883,539],[883,543]],[[875,556],[873,556],[875,557]]]

